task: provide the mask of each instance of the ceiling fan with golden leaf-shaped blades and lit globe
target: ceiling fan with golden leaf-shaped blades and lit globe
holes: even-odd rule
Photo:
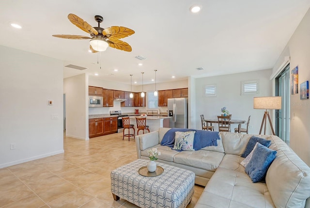
[[[120,39],[135,33],[133,30],[122,26],[112,26],[103,29],[100,27],[100,23],[103,21],[103,17],[96,15],[94,18],[96,22],[98,22],[98,27],[92,27],[90,24],[74,14],[68,15],[70,22],[72,22],[79,29],[90,33],[91,37],[65,34],[57,34],[52,36],[66,39],[91,39],[90,49],[93,53],[98,51],[105,51],[108,46],[128,52],[131,51],[131,46],[128,43],[121,41]]]

